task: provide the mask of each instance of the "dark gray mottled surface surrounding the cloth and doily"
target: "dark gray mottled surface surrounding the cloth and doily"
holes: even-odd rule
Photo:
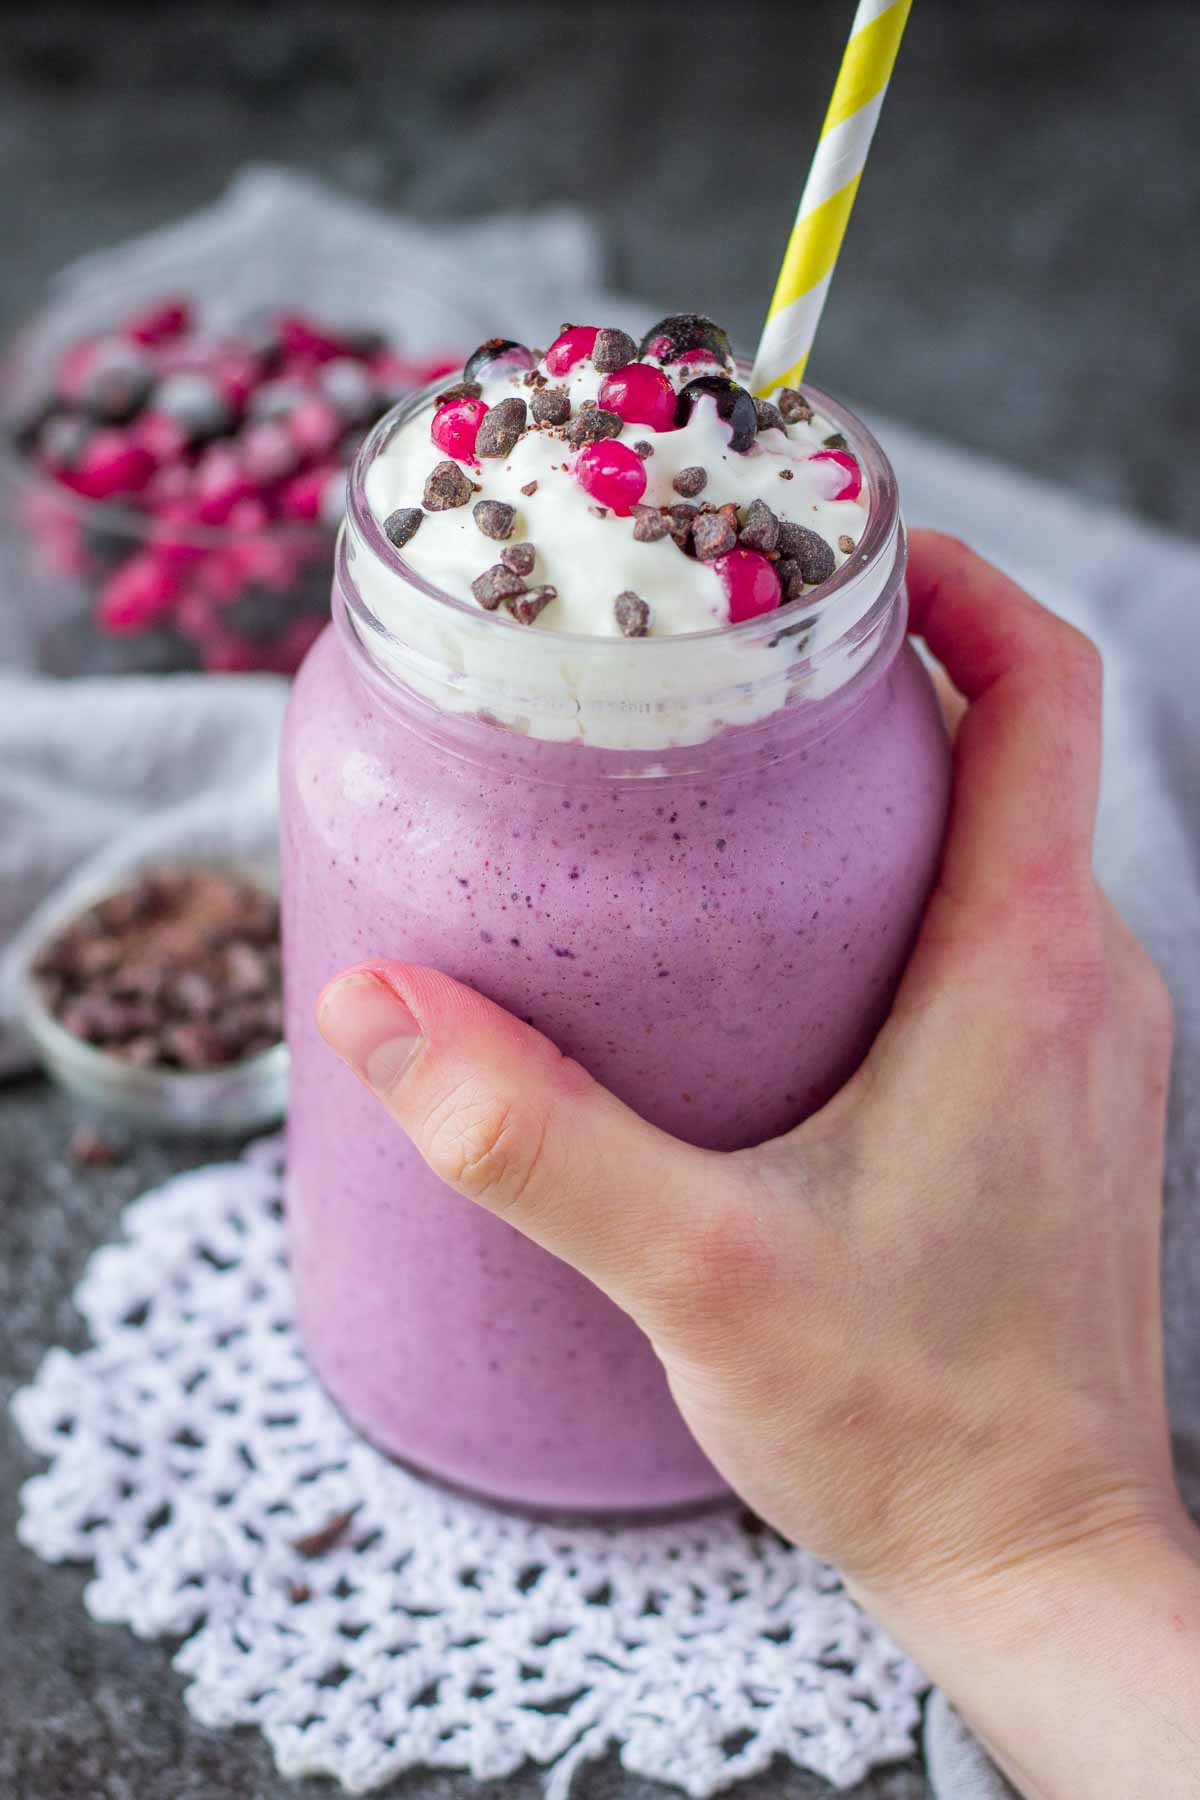
[[[0,328],[47,275],[210,198],[250,158],[426,218],[572,200],[612,277],[752,342],[851,4],[203,7],[50,0],[0,34]],[[916,0],[813,376],[847,398],[1195,531],[1200,407],[1195,5]],[[121,1206],[212,1152],[65,1161],[76,1114],[0,1089],[0,1400],[52,1343]],[[250,1733],[209,1733],[162,1645],[94,1625],[81,1573],[13,1539],[0,1492],[2,1800],[284,1800]],[[779,1768],[747,1800],[824,1784]],[[536,1800],[414,1775],[412,1800]],[[579,1800],[649,1800],[615,1762]],[[919,1771],[860,1793],[918,1800]]]

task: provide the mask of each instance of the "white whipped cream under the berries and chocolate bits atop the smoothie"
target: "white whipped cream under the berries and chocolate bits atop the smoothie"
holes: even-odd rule
[[[648,364],[658,367],[655,358]],[[599,403],[604,376],[590,358],[567,374],[545,374],[551,387],[570,398],[570,421],[585,401]],[[678,391],[696,374],[729,374],[729,367],[667,364],[664,374]],[[516,396],[527,405],[536,387],[527,371],[504,364],[486,365],[477,382],[482,401],[495,407]],[[367,472],[367,500],[383,524],[399,508],[421,506],[425,482],[444,452],[430,437],[434,407],[396,432]],[[649,635],[705,632],[729,623],[729,599],[716,567],[689,556],[671,536],[639,542],[635,517],[619,517],[597,506],[574,475],[579,448],[569,441],[570,421],[563,427],[527,428],[507,455],[462,459],[461,466],[477,484],[470,502],[446,511],[426,511],[410,542],[405,562],[426,581],[462,601],[473,601],[471,583],[493,567],[504,549],[475,522],[479,500],[500,500],[515,509],[509,544],[533,544],[534,563],[525,576],[529,587],[551,585],[556,598],[538,614],[533,630],[572,632],[590,637],[621,634],[615,599],[633,592],[649,607]],[[829,419],[813,414],[792,425],[759,430],[748,450],[730,450],[730,427],[718,416],[714,400],[702,396],[691,419],[676,430],[648,425],[622,425],[619,443],[633,448],[649,445],[644,459],[646,493],[642,506],[678,506],[684,495],[673,486],[682,470],[702,468],[705,484],[689,495],[693,506],[734,502],[739,511],[763,500],[781,520],[817,531],[833,551],[835,565],[853,554],[867,520],[869,493],[853,500],[835,495],[846,486],[846,470],[828,457],[813,461],[835,436]],[[531,488],[533,491],[525,491]],[[849,547],[847,547],[849,545]],[[793,594],[795,598],[795,594]],[[387,619],[385,619],[387,623]]]

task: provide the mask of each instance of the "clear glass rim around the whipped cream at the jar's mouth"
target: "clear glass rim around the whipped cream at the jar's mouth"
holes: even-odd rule
[[[739,360],[739,373],[748,373],[748,365]],[[437,587],[435,581],[426,580],[419,571],[412,567],[390,542],[383,526],[376,518],[371,502],[367,500],[367,470],[371,468],[374,457],[383,448],[383,443],[392,436],[394,430],[414,419],[446,385],[443,376],[439,382],[432,382],[428,387],[416,394],[407,394],[398,405],[380,418],[374,427],[367,432],[362,441],[354,463],[351,466],[347,481],[347,504],[345,504],[345,522],[342,526],[342,540],[347,531],[353,531],[354,538],[363,544],[363,547],[380,562],[383,567],[394,574],[407,587],[416,589],[426,599],[437,601],[450,616],[462,617],[470,621],[470,628],[477,628],[480,617],[479,605],[461,599],[457,594],[450,594],[446,589]],[[811,383],[801,383],[801,392],[811,401],[813,409],[824,418],[833,419],[833,423],[842,430],[853,455],[858,457],[865,479],[867,491],[871,495],[871,504],[867,508],[867,524],[864,533],[855,545],[851,556],[835,569],[828,581],[822,581],[819,589],[810,594],[802,594],[799,599],[784,601],[768,614],[759,614],[752,619],[739,619],[736,625],[712,625],[700,632],[669,632],[658,637],[639,637],[631,639],[639,657],[658,655],[675,652],[678,655],[680,646],[685,644],[736,644],[747,643],[768,634],[772,630],[786,628],[795,625],[801,614],[817,619],[833,601],[844,599],[887,554],[889,547],[894,545],[896,535],[900,531],[900,495],[896,486],[896,473],[891,461],[876,436],[853,414],[847,407],[837,401],[824,389],[813,387]],[[338,549],[338,565],[342,567],[344,556],[342,547]],[[345,601],[353,616],[351,623],[362,625],[372,637],[378,637],[383,644],[403,646],[403,639],[398,637],[389,626],[371,610],[362,596],[358,583],[345,583]],[[869,608],[873,610],[873,608]],[[529,643],[529,626],[520,625],[518,619],[504,617],[502,612],[493,612],[486,616],[488,630],[500,630],[507,634],[516,634],[524,643]],[[855,626],[862,623],[858,616]],[[615,639],[599,632],[540,632],[540,637],[552,639],[554,644],[576,650],[587,655],[587,646],[603,646],[612,650]],[[513,641],[509,637],[509,641]],[[837,648],[837,646],[829,646]]]

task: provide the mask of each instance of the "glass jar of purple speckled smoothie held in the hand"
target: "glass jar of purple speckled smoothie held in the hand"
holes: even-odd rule
[[[417,578],[365,481],[428,396],[376,427],[351,479],[335,623],[282,763],[297,1316],[374,1444],[506,1501],[664,1508],[723,1483],[639,1328],[444,1188],[313,1003],[349,963],[434,965],[721,1150],[855,1071],[934,878],[948,749],[905,643],[892,472],[810,398],[862,461],[862,542],[811,598],[720,630],[569,637]]]

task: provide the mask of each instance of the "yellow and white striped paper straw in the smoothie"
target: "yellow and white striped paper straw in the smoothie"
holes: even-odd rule
[[[846,56],[804,182],[750,387],[793,387],[808,364],[912,0],[858,0]]]

